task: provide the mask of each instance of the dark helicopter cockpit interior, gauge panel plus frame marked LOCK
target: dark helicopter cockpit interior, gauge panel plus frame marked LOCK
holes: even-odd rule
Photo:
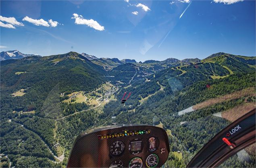
[[[254,109],[215,135],[187,167],[216,167],[255,143],[255,135]],[[169,139],[164,129],[114,124],[81,133],[71,149],[67,167],[161,167],[169,152]]]

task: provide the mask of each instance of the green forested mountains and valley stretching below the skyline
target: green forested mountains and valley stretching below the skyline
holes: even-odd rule
[[[255,63],[256,57],[223,52],[203,60],[136,62],[76,52],[2,60],[1,164],[66,166],[75,137],[111,124],[115,116],[119,124],[166,129],[171,141],[166,167],[185,167],[230,123],[215,113],[255,106]],[[131,95],[121,104],[125,92]],[[216,97],[224,101],[214,101]],[[210,100],[210,106],[202,104]],[[193,112],[179,115],[190,107]],[[240,162],[234,156],[222,166],[256,167],[255,155],[249,157]]]

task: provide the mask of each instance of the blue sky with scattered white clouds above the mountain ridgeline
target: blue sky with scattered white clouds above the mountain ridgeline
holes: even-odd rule
[[[75,51],[137,61],[256,52],[255,1],[0,3],[1,51],[42,56]]]

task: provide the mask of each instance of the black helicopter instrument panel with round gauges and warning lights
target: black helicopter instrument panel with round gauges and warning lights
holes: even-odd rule
[[[169,155],[166,131],[150,125],[111,125],[81,133],[67,167],[155,168]]]

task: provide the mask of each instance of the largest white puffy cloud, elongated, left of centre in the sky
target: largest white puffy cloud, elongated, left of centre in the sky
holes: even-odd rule
[[[76,13],[74,13],[73,16],[74,17],[71,17],[71,19],[75,19],[75,24],[77,25],[87,25],[99,31],[104,30],[104,26],[101,26],[97,21],[94,21],[93,19],[83,19],[82,15],[77,15]]]

